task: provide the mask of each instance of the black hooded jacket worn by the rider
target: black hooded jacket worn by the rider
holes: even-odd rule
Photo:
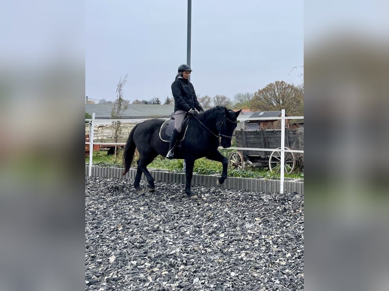
[[[172,83],[174,97],[174,111],[183,110],[188,112],[191,108],[204,111],[197,100],[195,88],[187,79],[178,76]]]

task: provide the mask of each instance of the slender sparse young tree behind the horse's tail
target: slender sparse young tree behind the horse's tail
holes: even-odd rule
[[[115,119],[121,118],[123,115],[124,111],[127,110],[128,108],[128,101],[124,100],[123,98],[123,87],[125,83],[127,82],[127,76],[125,75],[123,80],[120,78],[119,83],[116,86],[116,100],[112,104],[112,110],[111,110],[111,117]],[[120,121],[113,121],[113,138],[114,142],[118,142],[119,140],[119,135],[121,133],[121,122]],[[117,159],[117,145],[115,145],[115,161]]]

